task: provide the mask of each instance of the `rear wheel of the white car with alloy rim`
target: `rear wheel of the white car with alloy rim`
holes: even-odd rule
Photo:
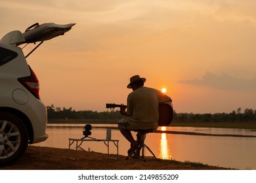
[[[15,114],[0,112],[0,166],[22,157],[28,147],[28,130]]]

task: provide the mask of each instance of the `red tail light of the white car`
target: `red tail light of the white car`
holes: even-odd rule
[[[28,66],[30,67],[30,66]],[[37,76],[33,72],[33,70],[30,67],[30,76],[18,78],[18,81],[25,86],[37,99],[40,99],[39,96],[39,80],[37,79]]]

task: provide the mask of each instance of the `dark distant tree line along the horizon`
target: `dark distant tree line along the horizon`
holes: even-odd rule
[[[118,120],[123,118],[119,110],[110,110],[97,112],[93,110],[75,111],[70,108],[47,106],[48,118],[51,119],[97,119],[97,120]],[[177,113],[174,111],[173,121],[175,122],[248,122],[256,121],[256,110],[245,108],[242,112],[241,108],[233,110],[230,113]]]

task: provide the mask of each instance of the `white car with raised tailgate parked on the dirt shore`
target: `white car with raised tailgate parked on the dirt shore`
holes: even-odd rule
[[[28,144],[47,139],[47,110],[28,57],[43,41],[64,35],[75,24],[34,24],[24,33],[11,31],[0,41],[0,166],[22,157]],[[24,56],[21,44],[40,43]]]

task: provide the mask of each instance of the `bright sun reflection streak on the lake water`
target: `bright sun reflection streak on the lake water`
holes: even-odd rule
[[[161,127],[162,131],[166,130],[166,127]],[[160,140],[160,158],[161,159],[171,159],[171,152],[168,148],[168,141],[166,137],[166,133],[161,133],[161,140]]]

